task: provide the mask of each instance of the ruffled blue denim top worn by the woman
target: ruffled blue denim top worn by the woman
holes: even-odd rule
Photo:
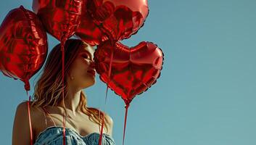
[[[62,145],[63,127],[51,126],[38,135],[34,145]],[[90,133],[87,136],[80,136],[75,130],[65,128],[67,145],[98,145],[99,133]],[[103,145],[115,145],[115,141],[108,134],[102,135]]]

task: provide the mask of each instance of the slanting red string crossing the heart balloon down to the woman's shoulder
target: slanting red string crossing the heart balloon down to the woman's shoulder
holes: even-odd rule
[[[112,45],[112,46],[114,47],[114,45]],[[101,128],[101,132],[100,132],[100,136],[99,136],[99,145],[102,145],[102,134],[103,134],[103,128],[104,128],[105,106],[107,104],[107,91],[108,91],[108,88],[109,88],[108,84],[110,83],[110,74],[111,74],[111,70],[112,70],[112,61],[113,61],[114,48],[112,49],[112,53],[111,53],[111,57],[110,57],[110,68],[109,68],[109,72],[108,72],[105,103],[104,103],[104,108],[103,108],[102,128]]]

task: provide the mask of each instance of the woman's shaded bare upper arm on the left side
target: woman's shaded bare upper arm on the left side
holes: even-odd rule
[[[12,145],[30,144],[30,126],[27,101],[17,106],[12,128]]]

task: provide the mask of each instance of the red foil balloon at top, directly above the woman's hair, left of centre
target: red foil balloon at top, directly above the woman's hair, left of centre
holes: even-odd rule
[[[70,38],[78,29],[85,0],[33,0],[33,11],[47,32],[59,41]]]

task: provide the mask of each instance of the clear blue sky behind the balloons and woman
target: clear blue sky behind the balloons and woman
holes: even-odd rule
[[[1,0],[0,20],[21,4],[32,9],[32,1]],[[149,0],[144,27],[123,43],[157,43],[165,62],[157,83],[131,103],[126,145],[256,144],[255,7],[254,0]],[[48,38],[50,51],[58,41]],[[96,77],[85,90],[88,105],[103,109],[106,86]],[[2,74],[0,92],[0,140],[11,144],[17,104],[28,97],[20,80]],[[105,111],[119,145],[125,104],[109,92]]]

